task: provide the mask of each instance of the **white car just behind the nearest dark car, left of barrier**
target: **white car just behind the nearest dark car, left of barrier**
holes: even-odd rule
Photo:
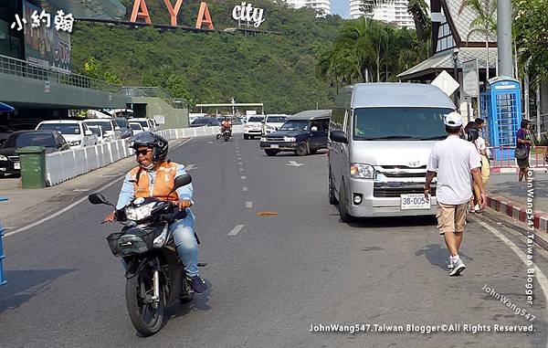
[[[37,131],[58,131],[70,145],[71,149],[79,149],[97,144],[97,137],[90,131],[84,121],[79,120],[52,120],[41,121]]]

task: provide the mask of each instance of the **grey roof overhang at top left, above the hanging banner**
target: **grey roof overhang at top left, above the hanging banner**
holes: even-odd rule
[[[38,0],[40,7],[52,13],[62,9],[79,19],[120,19],[126,15],[126,7],[119,0]]]

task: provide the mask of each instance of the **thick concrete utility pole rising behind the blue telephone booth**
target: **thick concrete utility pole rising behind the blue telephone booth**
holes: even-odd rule
[[[511,57],[511,0],[497,1],[497,41],[499,76],[513,76]]]

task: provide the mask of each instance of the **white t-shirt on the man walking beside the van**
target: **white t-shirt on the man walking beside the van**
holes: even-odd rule
[[[461,205],[472,197],[470,170],[481,167],[481,158],[473,143],[458,135],[436,142],[430,153],[427,171],[437,172],[437,202]]]

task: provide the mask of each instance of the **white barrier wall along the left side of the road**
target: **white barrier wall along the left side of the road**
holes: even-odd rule
[[[244,131],[244,127],[236,125],[233,133]],[[218,127],[195,127],[175,130],[159,131],[166,140],[194,138],[215,135]],[[81,174],[90,173],[100,167],[120,161],[132,155],[132,149],[127,146],[126,140],[106,142],[82,149],[62,151],[46,154],[46,183],[48,186],[58,185]]]

